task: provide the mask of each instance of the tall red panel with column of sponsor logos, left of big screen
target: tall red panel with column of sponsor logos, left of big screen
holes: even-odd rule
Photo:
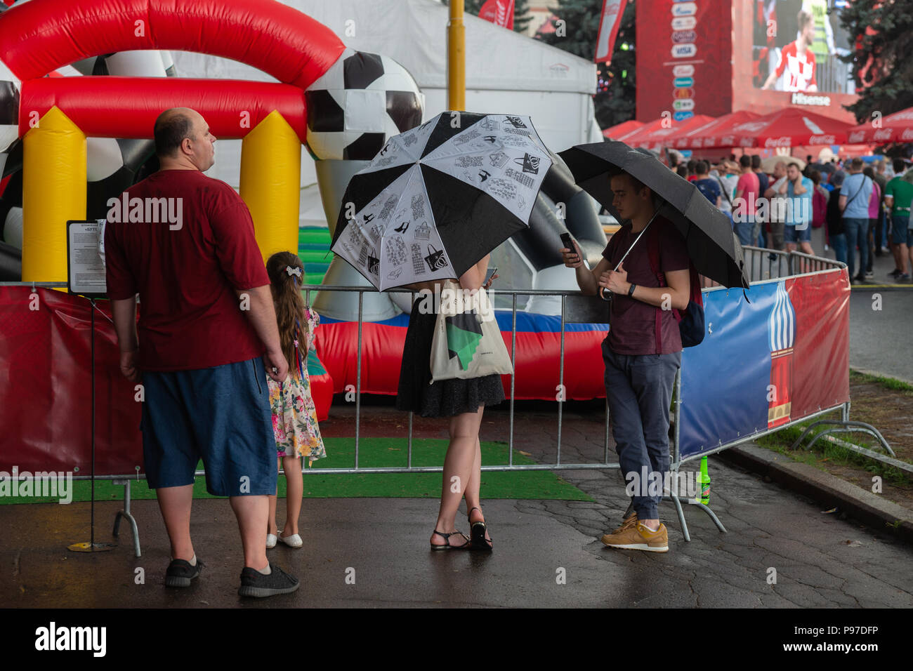
[[[726,5],[726,6],[723,6]],[[637,119],[732,110],[732,16],[726,3],[637,0]]]

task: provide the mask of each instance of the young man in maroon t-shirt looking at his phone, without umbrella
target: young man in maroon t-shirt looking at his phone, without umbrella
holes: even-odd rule
[[[619,529],[603,536],[603,543],[625,550],[666,552],[668,534],[657,508],[669,468],[669,404],[682,350],[671,310],[687,308],[689,260],[685,240],[675,226],[665,218],[653,218],[649,188],[626,173],[611,177],[611,184],[612,204],[628,222],[614,234],[603,258],[588,270],[579,248],[562,250],[564,265],[575,268],[582,293],[602,292],[603,298],[611,293],[612,299],[609,334],[603,341],[605,393],[618,461],[629,493],[633,488],[634,513]],[[637,240],[648,223],[653,230]],[[650,266],[650,236],[658,246],[657,271],[665,286]]]

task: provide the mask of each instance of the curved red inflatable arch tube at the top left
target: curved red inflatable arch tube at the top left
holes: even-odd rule
[[[0,54],[23,81],[101,54],[174,49],[232,58],[303,90],[344,48],[275,0],[43,0],[14,5],[0,22]]]

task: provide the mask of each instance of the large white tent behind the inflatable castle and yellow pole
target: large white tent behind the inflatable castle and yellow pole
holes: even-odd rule
[[[281,0],[331,28],[347,47],[383,53],[408,69],[425,93],[425,119],[446,110],[447,7],[437,0]],[[593,119],[593,63],[466,16],[467,110],[529,115],[553,152],[602,140]],[[275,81],[236,61],[173,52],[179,77]],[[237,187],[240,141],[216,142],[208,173]],[[326,225],[314,162],[301,156],[300,225]]]

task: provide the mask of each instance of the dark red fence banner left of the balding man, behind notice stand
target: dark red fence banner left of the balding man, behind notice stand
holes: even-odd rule
[[[121,375],[109,303],[96,305],[95,472],[131,475],[142,467],[142,406]],[[90,309],[53,289],[0,288],[0,470],[89,475]]]

